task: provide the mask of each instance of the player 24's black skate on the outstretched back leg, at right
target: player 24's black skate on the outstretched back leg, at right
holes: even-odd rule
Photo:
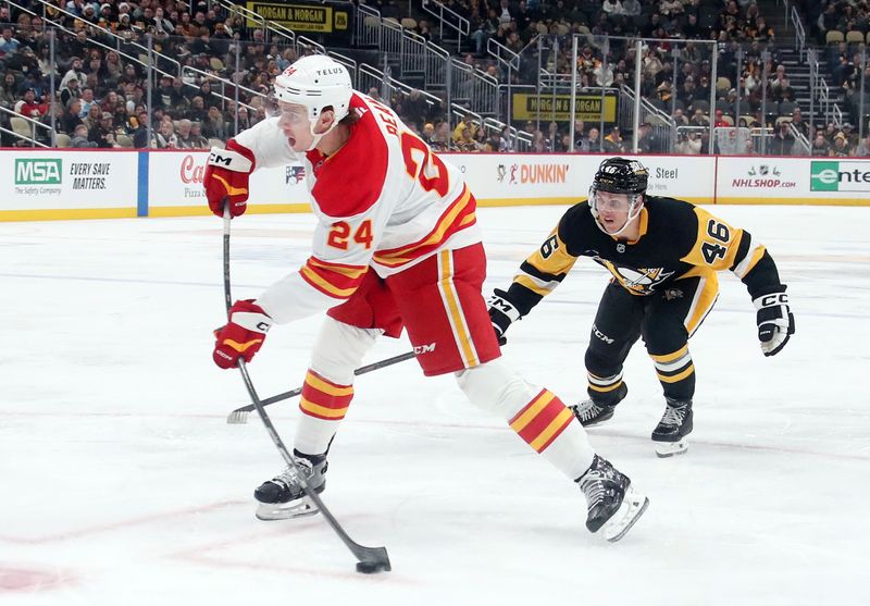
[[[586,495],[589,532],[604,529],[605,539],[619,541],[646,511],[649,499],[632,488],[632,481],[598,455],[586,473],[576,479]]]

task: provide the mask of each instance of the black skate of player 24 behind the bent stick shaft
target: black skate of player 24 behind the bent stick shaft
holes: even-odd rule
[[[326,487],[326,455],[303,455],[294,450],[294,458],[308,486],[318,494],[322,493]],[[313,516],[319,511],[306,496],[299,482],[299,472],[294,466],[287,466],[272,480],[263,482],[253,491],[253,497],[260,502],[257,509],[260,520],[288,520]]]

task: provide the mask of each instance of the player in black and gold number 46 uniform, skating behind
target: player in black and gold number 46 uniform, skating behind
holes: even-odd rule
[[[607,268],[585,363],[589,398],[571,407],[584,425],[610,419],[627,394],[622,364],[643,337],[667,407],[652,431],[656,453],[684,453],[692,432],[695,367],[688,338],[719,295],[717,272],[731,270],[757,309],[765,356],[795,332],[776,265],[748,232],[673,198],[647,196],[649,173],[635,160],[601,162],[588,200],[571,207],[544,244],[520,265],[507,292],[496,289],[489,317],[499,338],[564,279],[579,257]]]

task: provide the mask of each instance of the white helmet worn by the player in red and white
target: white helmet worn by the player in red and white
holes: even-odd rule
[[[314,134],[314,125],[323,110],[332,108],[335,112],[332,131],[350,111],[352,94],[347,67],[325,54],[303,57],[275,78],[275,98],[278,101],[303,106],[308,110],[311,134],[315,137],[311,149],[326,134]]]

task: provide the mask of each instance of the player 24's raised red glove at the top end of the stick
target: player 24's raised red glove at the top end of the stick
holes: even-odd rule
[[[233,217],[243,214],[248,208],[248,178],[253,172],[254,160],[250,149],[234,139],[226,141],[226,149],[211,148],[206,164],[202,184],[209,208],[217,217],[224,215],[224,203],[229,201]]]

